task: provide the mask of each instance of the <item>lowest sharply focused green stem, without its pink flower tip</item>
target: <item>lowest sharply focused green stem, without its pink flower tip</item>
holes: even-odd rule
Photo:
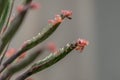
[[[59,49],[55,53],[51,53],[43,60],[40,60],[37,63],[35,63],[31,68],[29,68],[25,73],[21,74],[15,80],[25,80],[27,77],[50,67],[51,65],[55,64],[56,62],[64,58],[68,53],[70,53],[76,47],[77,47],[76,43],[67,44],[64,48]]]

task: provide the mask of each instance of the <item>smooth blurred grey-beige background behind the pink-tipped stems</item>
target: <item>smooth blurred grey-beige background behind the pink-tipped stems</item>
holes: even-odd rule
[[[29,12],[10,47],[19,48],[62,9],[72,10],[73,19],[65,20],[42,44],[54,41],[62,47],[79,37],[90,44],[83,53],[72,51],[57,64],[31,77],[35,80],[120,80],[120,0],[34,1],[41,4],[41,9]]]

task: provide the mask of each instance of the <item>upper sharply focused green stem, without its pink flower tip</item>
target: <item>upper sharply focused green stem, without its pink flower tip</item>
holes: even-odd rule
[[[65,16],[61,15],[62,19],[65,18]],[[61,24],[61,22],[58,22],[56,24],[49,24],[46,28],[43,28],[41,33],[38,33],[37,36],[33,37],[31,40],[28,40],[25,42],[24,46],[21,47],[20,50],[16,52],[13,56],[11,56],[8,60],[6,60],[2,65],[4,66],[0,72],[2,72],[7,65],[11,64],[18,56],[20,56],[23,52],[35,47],[45,39],[47,39]]]

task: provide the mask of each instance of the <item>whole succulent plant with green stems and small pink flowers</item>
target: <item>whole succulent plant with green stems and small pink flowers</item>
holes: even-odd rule
[[[11,18],[14,1],[0,0],[0,80],[10,80],[15,73],[24,69],[26,66],[30,67],[18,75],[15,80],[31,80],[28,78],[29,76],[50,67],[74,49],[82,52],[84,47],[88,45],[87,40],[78,39],[77,41],[67,43],[60,49],[56,49],[55,44],[51,43],[33,52],[27,52],[36,45],[40,45],[40,43],[52,35],[65,18],[72,19],[72,11],[62,10],[53,20],[48,21],[48,25],[38,35],[25,41],[18,50],[14,48],[8,50],[11,40],[21,27],[28,10],[39,9],[39,5],[33,3],[32,0],[23,0],[23,4],[17,8],[15,17]],[[50,50],[51,53],[44,59],[33,62],[45,50]],[[5,57],[6,60],[3,61]],[[33,65],[29,65],[30,63],[33,63]]]

